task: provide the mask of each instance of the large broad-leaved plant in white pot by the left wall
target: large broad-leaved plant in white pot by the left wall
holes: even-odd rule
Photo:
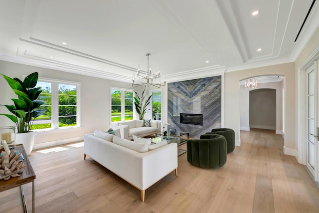
[[[14,105],[0,104],[12,113],[0,115],[6,116],[15,123],[18,133],[16,135],[16,142],[22,143],[26,154],[29,155],[34,143],[34,133],[31,131],[31,127],[34,119],[42,114],[42,110],[37,109],[43,104],[40,100],[37,100],[42,92],[40,87],[35,87],[38,80],[38,73],[31,73],[26,76],[23,81],[18,78],[1,75],[17,95],[17,98],[11,98]],[[28,137],[28,139],[22,139],[21,136]]]

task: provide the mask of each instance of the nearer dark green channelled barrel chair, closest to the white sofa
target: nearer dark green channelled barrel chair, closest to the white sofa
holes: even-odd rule
[[[201,168],[219,168],[227,161],[226,139],[222,135],[205,134],[187,140],[188,163]]]

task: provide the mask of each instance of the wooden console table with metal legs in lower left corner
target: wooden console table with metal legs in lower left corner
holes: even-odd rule
[[[0,150],[0,152],[3,149]],[[21,195],[22,195],[22,202],[23,202],[23,206],[24,206],[24,212],[27,213],[27,208],[26,208],[26,202],[25,202],[25,198],[24,198],[24,192],[23,192],[23,188],[22,185],[23,184],[27,184],[27,183],[31,183],[32,182],[32,213],[35,212],[35,185],[34,185],[34,180],[35,180],[35,174],[34,171],[32,169],[32,166],[29,162],[28,156],[26,155],[23,145],[22,144],[18,144],[16,145],[16,148],[10,151],[14,151],[14,150],[19,150],[19,153],[22,153],[23,158],[24,158],[24,171],[21,174],[21,176],[19,177],[15,177],[15,178],[10,178],[7,181],[4,180],[0,180],[0,192],[8,190],[8,189],[12,189],[14,187],[20,187],[21,189]]]

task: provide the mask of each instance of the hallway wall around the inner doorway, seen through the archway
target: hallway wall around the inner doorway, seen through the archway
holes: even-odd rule
[[[276,134],[283,134],[283,82],[258,83],[257,89],[276,89]],[[240,85],[240,130],[249,131],[249,91]]]

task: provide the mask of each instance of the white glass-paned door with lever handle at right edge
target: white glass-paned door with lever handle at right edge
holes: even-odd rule
[[[315,65],[307,69],[307,168],[318,181],[317,72]]]

